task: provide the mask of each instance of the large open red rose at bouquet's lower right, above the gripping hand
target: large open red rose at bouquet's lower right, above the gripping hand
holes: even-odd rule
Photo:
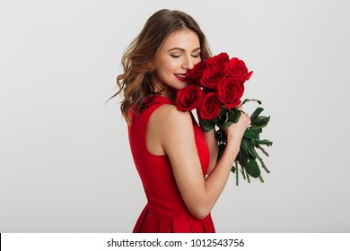
[[[217,84],[217,98],[226,108],[236,108],[241,104],[244,85],[234,77],[223,79]]]

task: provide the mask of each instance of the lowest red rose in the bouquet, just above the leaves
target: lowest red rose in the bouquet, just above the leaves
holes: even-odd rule
[[[212,120],[220,114],[220,111],[221,104],[216,98],[216,93],[209,92],[200,102],[198,115],[200,118]]]

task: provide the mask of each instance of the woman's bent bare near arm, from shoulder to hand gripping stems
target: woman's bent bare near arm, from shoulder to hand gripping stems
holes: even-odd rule
[[[162,108],[154,120],[162,121],[162,127],[158,130],[160,143],[171,160],[174,177],[189,212],[199,219],[205,218],[223,192],[232,163],[240,149],[241,137],[250,123],[249,117],[241,115],[240,121],[226,130],[226,149],[206,179],[197,155],[189,112],[167,106]]]

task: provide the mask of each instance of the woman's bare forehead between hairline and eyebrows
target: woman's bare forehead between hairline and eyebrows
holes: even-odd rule
[[[192,50],[200,47],[199,38],[192,30],[176,30],[165,40],[163,49],[183,48]]]

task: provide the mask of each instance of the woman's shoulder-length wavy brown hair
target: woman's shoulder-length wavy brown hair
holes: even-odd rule
[[[192,30],[201,47],[200,56],[206,60],[211,56],[206,36],[197,22],[187,13],[160,10],[145,22],[144,29],[134,39],[121,58],[124,74],[117,77],[119,91],[109,98],[122,94],[120,110],[127,123],[131,123],[130,111],[140,112],[144,108],[144,99],[157,94],[154,69],[165,40],[177,30]]]

